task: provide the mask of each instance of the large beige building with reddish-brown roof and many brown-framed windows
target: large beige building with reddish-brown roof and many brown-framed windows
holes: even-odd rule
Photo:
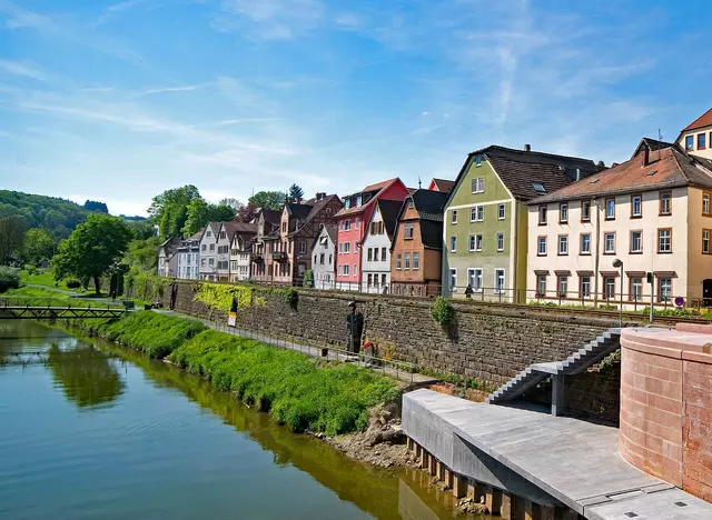
[[[631,160],[533,200],[527,300],[712,304],[711,198],[712,161],[643,139]]]

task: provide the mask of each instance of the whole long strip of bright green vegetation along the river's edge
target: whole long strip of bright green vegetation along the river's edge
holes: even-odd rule
[[[137,311],[85,331],[138,348],[233,391],[294,431],[337,434],[368,426],[369,408],[399,390],[388,378],[348,363],[326,363],[290,350],[206,329],[200,322]]]

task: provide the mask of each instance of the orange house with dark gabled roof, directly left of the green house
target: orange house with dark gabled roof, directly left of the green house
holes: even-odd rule
[[[447,192],[417,190],[398,212],[390,254],[394,294],[441,293],[443,204]]]

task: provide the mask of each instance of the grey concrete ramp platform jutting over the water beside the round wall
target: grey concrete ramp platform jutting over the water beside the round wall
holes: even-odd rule
[[[712,519],[712,504],[625,462],[615,428],[416,390],[403,429],[459,474],[587,519]]]

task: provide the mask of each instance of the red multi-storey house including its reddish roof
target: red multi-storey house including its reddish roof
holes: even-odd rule
[[[389,179],[367,186],[358,193],[344,197],[344,209],[336,213],[337,254],[336,281],[339,289],[358,290],[360,277],[360,244],[366,234],[367,222],[378,199],[403,201],[408,189],[400,179]]]

